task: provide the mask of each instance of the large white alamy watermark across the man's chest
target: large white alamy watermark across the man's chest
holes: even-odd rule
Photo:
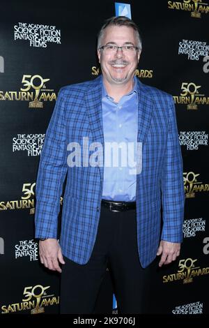
[[[142,142],[91,142],[83,137],[79,142],[70,142],[67,147],[69,167],[128,167],[131,175],[142,170]]]

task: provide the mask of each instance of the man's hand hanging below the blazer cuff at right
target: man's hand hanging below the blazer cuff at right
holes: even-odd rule
[[[157,251],[157,255],[161,255],[159,267],[162,267],[162,264],[169,264],[175,261],[179,254],[180,243],[171,243],[170,241],[161,240]]]

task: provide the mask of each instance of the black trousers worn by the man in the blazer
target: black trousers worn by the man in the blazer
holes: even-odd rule
[[[150,266],[141,267],[137,250],[135,209],[109,211],[102,206],[98,234],[86,264],[65,258],[61,274],[61,314],[94,313],[107,264],[118,313],[144,313],[148,306]]]

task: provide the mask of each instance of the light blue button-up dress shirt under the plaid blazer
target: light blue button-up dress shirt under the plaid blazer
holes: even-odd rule
[[[134,77],[132,91],[123,96],[118,103],[108,96],[104,83],[102,85],[104,131],[102,199],[105,200],[125,202],[136,200],[137,176],[130,174],[133,161],[137,161],[138,95],[135,79],[136,77]],[[123,142],[121,148],[118,148],[118,152],[110,150],[113,149],[110,147],[111,142],[116,142],[118,146]]]

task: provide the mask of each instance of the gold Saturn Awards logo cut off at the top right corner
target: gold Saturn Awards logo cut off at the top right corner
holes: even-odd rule
[[[201,14],[209,12],[208,3],[203,0],[168,1],[168,8],[189,11],[194,18],[201,18]]]

